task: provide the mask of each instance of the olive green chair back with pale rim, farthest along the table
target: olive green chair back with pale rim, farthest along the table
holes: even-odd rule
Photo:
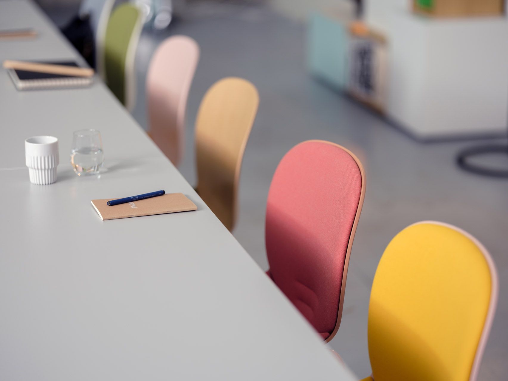
[[[141,24],[141,11],[132,4],[122,4],[115,8],[106,27],[104,79],[128,110],[136,104],[134,58]]]

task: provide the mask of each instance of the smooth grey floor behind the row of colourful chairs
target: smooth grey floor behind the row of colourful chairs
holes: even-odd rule
[[[479,379],[506,379],[508,180],[475,176],[456,167],[455,154],[471,142],[418,143],[313,80],[305,68],[305,26],[263,6],[194,7],[164,33],[144,31],[137,52],[139,87],[134,111],[144,128],[148,62],[158,42],[173,34],[193,37],[201,47],[188,100],[186,152],[179,168],[191,184],[196,178],[194,121],[204,92],[226,76],[244,77],[259,89],[261,103],[243,160],[234,235],[260,267],[268,267],[266,197],[283,154],[301,141],[325,139],[350,148],[363,162],[366,198],[347,277],[342,323],[331,341],[357,375],[370,374],[367,311],[379,258],[401,229],[433,219],[468,231],[492,253],[499,272],[499,303]]]

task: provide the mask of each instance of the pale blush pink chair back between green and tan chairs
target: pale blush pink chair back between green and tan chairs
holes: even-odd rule
[[[196,41],[169,37],[155,51],[146,78],[148,134],[175,166],[183,154],[187,97],[198,60]]]

